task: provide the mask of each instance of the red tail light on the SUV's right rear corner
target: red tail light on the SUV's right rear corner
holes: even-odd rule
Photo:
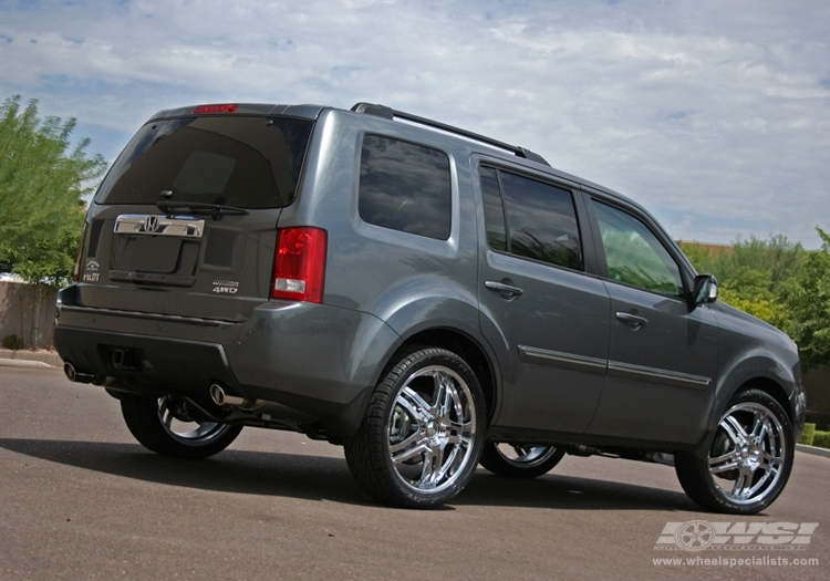
[[[320,228],[282,228],[278,232],[271,297],[323,302],[328,235]]]

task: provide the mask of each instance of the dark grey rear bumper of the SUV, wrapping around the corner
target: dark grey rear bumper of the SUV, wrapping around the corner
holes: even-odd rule
[[[71,288],[59,295],[54,344],[77,371],[206,406],[220,383],[314,416],[336,436],[356,430],[401,341],[375,317],[320,304],[267,301],[231,323],[92,309],[72,298]]]

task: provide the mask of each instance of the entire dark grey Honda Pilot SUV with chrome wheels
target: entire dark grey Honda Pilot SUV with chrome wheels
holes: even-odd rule
[[[151,450],[297,430],[403,507],[479,463],[527,478],[602,454],[754,513],[805,418],[792,341],[718,302],[643,208],[365,103],[154,115],[90,206],[54,341]]]

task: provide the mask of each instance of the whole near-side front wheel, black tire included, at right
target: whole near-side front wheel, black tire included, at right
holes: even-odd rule
[[[792,470],[792,426],[766,392],[733,397],[717,430],[699,448],[675,454],[681,486],[701,507],[715,512],[754,515],[784,490]]]

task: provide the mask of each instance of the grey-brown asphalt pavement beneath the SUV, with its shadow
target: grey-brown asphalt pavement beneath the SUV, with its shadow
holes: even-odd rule
[[[755,517],[698,510],[666,466],[572,457],[531,481],[479,468],[442,510],[391,509],[339,447],[248,428],[214,458],[173,460],[135,443],[100,387],[0,367],[2,580],[824,580],[828,500],[830,458],[799,452]],[[693,520],[819,526],[799,551],[758,537],[753,550],[655,550],[668,522]]]

